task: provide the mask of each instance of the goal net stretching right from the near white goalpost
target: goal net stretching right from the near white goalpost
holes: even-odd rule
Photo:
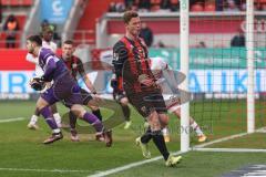
[[[256,152],[265,147],[266,3],[252,2],[190,4],[190,114],[208,139],[200,145],[192,131],[190,147],[194,149]],[[182,62],[186,60],[181,56]]]

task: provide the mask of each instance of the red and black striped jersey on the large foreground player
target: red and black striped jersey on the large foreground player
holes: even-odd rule
[[[113,65],[116,77],[123,77],[123,86],[130,85],[134,92],[142,92],[140,75],[146,74],[153,79],[149,64],[149,52],[145,42],[137,38],[122,38],[113,46]],[[120,84],[120,83],[119,83]]]

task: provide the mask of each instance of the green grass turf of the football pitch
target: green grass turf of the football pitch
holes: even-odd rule
[[[263,106],[263,103],[257,103],[256,127],[265,126]],[[1,119],[28,118],[33,111],[34,102],[0,102]],[[60,104],[59,111],[61,114],[66,112]],[[197,123],[205,128],[209,140],[246,131],[245,102],[204,104],[196,102],[192,104],[191,112]],[[103,115],[109,113],[104,111]],[[180,150],[177,127],[180,121],[173,115],[171,117],[172,142],[167,146],[171,152],[177,152]],[[65,132],[63,140],[48,146],[42,145],[42,140],[50,136],[50,129],[40,117],[41,129],[29,131],[27,129],[28,121],[0,123],[0,176],[83,177],[143,160],[140,148],[134,145],[134,139],[142,133],[143,118],[134,111],[132,112],[133,125],[130,129],[123,129],[123,125],[113,129],[114,145],[112,148],[106,148],[103,143],[94,142],[94,135],[81,135],[82,142],[72,143]],[[196,137],[192,135],[191,145],[197,145],[196,140]],[[153,143],[150,144],[152,156],[158,156]],[[254,134],[211,147],[265,148],[266,140],[264,134]],[[112,176],[221,176],[247,164],[265,163],[266,158],[264,153],[190,152],[183,156],[182,164],[175,168],[166,168],[161,159]],[[23,171],[23,169],[40,169],[40,171]],[[74,171],[54,171],[54,169]]]

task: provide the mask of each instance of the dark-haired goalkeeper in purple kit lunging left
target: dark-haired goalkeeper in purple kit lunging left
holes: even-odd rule
[[[58,127],[52,112],[49,108],[50,105],[62,101],[76,117],[92,124],[96,133],[104,136],[106,146],[111,146],[111,134],[104,131],[101,121],[99,121],[95,115],[88,113],[84,107],[82,107],[80,87],[71,76],[63,61],[58,59],[51,50],[42,48],[42,40],[39,35],[31,35],[27,39],[27,49],[29,53],[38,56],[39,65],[44,72],[38,81],[53,81],[52,86],[42,93],[37,101],[37,108],[52,129],[52,136],[45,139],[43,144],[50,144],[63,138],[61,129]],[[33,80],[33,82],[35,81]]]

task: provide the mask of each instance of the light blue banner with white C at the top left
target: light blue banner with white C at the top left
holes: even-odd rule
[[[41,1],[41,20],[48,20],[51,23],[64,23],[73,0],[45,0]]]

